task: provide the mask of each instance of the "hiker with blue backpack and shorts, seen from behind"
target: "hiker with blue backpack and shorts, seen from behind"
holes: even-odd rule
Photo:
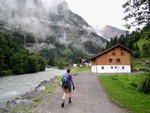
[[[71,103],[71,96],[72,96],[72,88],[71,84],[73,86],[73,90],[75,90],[75,86],[72,80],[72,75],[70,74],[70,69],[67,69],[67,73],[63,76],[62,78],[62,88],[63,88],[63,102],[61,104],[61,107],[64,107],[65,104],[65,97],[68,92],[68,97],[69,97],[69,103]]]

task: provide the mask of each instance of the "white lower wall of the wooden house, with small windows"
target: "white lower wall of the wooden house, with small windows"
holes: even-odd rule
[[[104,67],[102,69],[102,67]],[[124,69],[123,69],[124,67]],[[130,65],[94,65],[92,66],[94,73],[131,73]]]

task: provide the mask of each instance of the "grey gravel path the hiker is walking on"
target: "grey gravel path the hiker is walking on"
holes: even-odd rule
[[[67,98],[61,108],[62,89],[58,88],[35,113],[127,113],[110,102],[95,74],[80,72],[73,80],[76,89],[71,104]]]

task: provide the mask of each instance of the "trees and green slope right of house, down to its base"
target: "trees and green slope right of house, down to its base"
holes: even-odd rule
[[[126,36],[121,35],[120,37],[112,38],[110,42],[107,42],[106,49],[118,43],[128,47],[132,51],[132,69],[149,71],[150,66],[146,64],[146,61],[150,62],[150,41],[147,40],[147,38],[145,38],[146,35],[144,35],[147,31],[150,31],[149,26],[145,26],[141,31],[133,31],[131,34],[127,34]],[[150,33],[147,34],[147,36],[149,37]]]

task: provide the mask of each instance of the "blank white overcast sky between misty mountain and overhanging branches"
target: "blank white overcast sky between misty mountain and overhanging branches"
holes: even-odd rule
[[[68,7],[91,26],[112,25],[125,29],[122,5],[127,0],[65,0]]]

